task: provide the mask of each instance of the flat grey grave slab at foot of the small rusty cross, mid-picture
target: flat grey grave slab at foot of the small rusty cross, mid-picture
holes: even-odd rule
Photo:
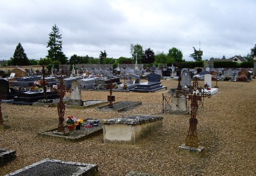
[[[109,105],[100,106],[98,108],[95,108],[97,111],[111,111],[111,112],[121,112],[121,111],[127,111],[130,109],[133,109],[139,105],[141,105],[142,102],[116,102],[113,104],[113,108],[109,108]]]

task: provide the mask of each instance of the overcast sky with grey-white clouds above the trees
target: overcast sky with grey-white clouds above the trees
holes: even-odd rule
[[[29,59],[45,58],[54,24],[62,51],[78,56],[131,57],[130,45],[193,60],[246,56],[256,43],[255,0],[0,0],[0,60],[20,42]],[[201,43],[201,46],[199,45]]]

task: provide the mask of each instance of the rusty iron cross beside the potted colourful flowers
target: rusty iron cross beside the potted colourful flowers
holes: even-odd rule
[[[66,94],[66,92],[72,92],[72,89],[66,88],[66,86],[63,84],[63,76],[61,75],[59,80],[59,85],[57,88],[51,88],[52,92],[58,92],[59,95],[59,103],[57,106],[58,109],[58,115],[59,115],[59,124],[58,124],[58,132],[59,133],[65,133],[65,128],[63,126],[64,121],[64,114],[65,114],[65,104],[63,102],[63,97]]]

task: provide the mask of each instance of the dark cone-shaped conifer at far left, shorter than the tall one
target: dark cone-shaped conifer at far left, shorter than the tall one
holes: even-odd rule
[[[20,43],[18,43],[14,51],[12,65],[29,65],[29,59]]]

